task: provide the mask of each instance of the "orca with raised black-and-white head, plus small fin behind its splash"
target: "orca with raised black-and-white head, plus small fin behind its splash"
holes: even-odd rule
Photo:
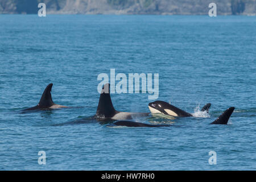
[[[150,109],[152,114],[162,113],[162,114],[171,115],[175,117],[192,117],[193,116],[192,114],[187,113],[186,111],[181,110],[164,101],[150,102],[150,104],[148,104],[148,108]],[[207,111],[208,113],[209,108],[210,108],[210,103],[206,104],[201,109],[201,111]]]

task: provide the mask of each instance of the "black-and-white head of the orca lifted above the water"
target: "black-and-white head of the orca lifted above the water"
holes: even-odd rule
[[[155,101],[155,102],[150,102],[150,104],[148,104],[148,108],[150,109],[152,114],[162,113],[162,114],[168,115],[166,110],[167,109],[170,110],[170,104],[164,101]]]

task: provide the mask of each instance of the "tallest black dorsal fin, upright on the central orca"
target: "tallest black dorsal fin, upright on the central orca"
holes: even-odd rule
[[[109,92],[110,84],[105,84],[101,90],[100,100],[98,101],[98,109],[96,111],[96,117],[99,118],[111,118],[118,113],[112,104]]]

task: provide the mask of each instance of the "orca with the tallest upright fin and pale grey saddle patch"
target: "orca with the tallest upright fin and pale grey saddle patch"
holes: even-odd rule
[[[95,114],[97,119],[133,119],[134,117],[145,117],[150,113],[127,113],[114,109],[109,92],[110,84],[105,84],[102,87],[98,108]]]

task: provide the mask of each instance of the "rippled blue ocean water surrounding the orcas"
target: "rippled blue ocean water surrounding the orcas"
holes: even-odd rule
[[[255,16],[0,15],[0,169],[255,170],[255,32]],[[133,119],[172,123],[156,128],[92,119],[110,69],[159,73],[157,100],[195,117]],[[68,108],[20,112],[51,82]],[[149,95],[111,94],[134,112],[149,111]],[[209,125],[230,106],[228,125]]]

